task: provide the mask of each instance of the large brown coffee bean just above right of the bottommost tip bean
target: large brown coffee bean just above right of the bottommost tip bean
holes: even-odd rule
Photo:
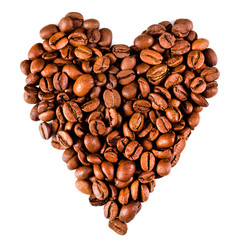
[[[131,202],[127,205],[122,206],[119,212],[119,220],[122,222],[130,222],[134,219],[137,213],[141,210],[140,202]]]

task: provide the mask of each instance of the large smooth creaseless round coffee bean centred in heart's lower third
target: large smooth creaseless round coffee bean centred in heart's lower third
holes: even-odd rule
[[[123,182],[128,181],[136,171],[136,165],[133,161],[121,160],[119,162],[116,177]]]

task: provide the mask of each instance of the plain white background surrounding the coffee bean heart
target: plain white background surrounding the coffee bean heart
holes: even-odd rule
[[[0,239],[239,240],[240,31],[237,0],[228,1],[6,1],[0,32]],[[41,139],[32,106],[23,101],[19,70],[39,30],[70,11],[96,18],[114,43],[131,45],[153,23],[190,18],[218,54],[219,93],[201,113],[179,164],[128,224],[108,228],[102,207],[75,189],[61,151]]]

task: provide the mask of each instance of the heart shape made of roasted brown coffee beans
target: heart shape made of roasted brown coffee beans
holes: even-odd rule
[[[131,47],[112,46],[111,30],[99,25],[68,13],[41,29],[43,43],[20,67],[42,138],[64,150],[77,189],[124,235],[155,179],[177,164],[220,74],[188,19],[153,24]]]

